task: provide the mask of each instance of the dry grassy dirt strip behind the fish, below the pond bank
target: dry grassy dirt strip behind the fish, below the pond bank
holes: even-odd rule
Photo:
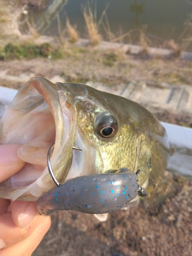
[[[92,47],[69,46],[63,59],[38,58],[0,61],[0,72],[9,75],[22,73],[46,77],[64,77],[66,82],[99,81],[115,87],[130,81],[146,81],[147,85],[162,87],[162,83],[192,84],[192,62],[180,58],[150,58],[130,55],[116,50],[97,50]],[[1,79],[5,87],[19,88],[22,83]]]

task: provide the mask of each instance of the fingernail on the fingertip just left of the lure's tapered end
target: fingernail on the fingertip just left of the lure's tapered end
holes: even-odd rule
[[[37,215],[37,209],[34,202],[30,202],[27,207],[18,215],[19,228],[26,227]]]

